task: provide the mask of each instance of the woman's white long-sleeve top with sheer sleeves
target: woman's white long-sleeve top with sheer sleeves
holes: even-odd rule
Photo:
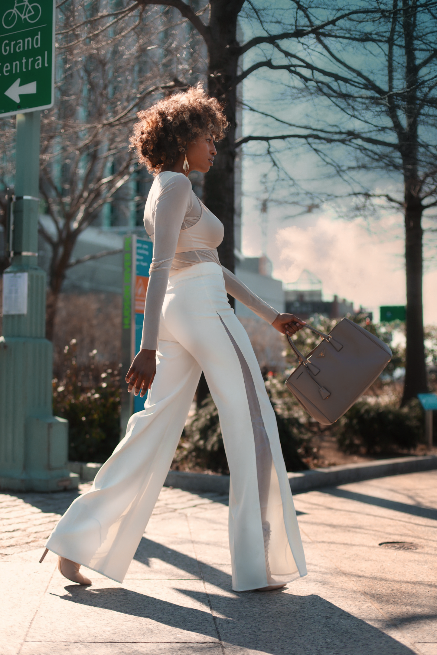
[[[145,309],[141,348],[156,350],[162,303],[170,275],[204,261],[221,266],[217,247],[223,224],[200,202],[185,175],[165,171],[151,186],[144,210],[144,227],[153,241],[153,258]],[[272,324],[278,312],[221,266],[225,288],[240,303]]]

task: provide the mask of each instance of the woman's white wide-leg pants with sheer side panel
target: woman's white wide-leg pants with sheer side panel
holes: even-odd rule
[[[47,548],[123,582],[172,463],[201,371],[219,413],[231,472],[233,589],[306,574],[275,413],[220,267],[200,263],[170,277],[157,373],[143,411],[50,535]]]

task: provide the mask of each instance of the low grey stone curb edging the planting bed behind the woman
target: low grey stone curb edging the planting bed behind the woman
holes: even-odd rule
[[[90,482],[102,464],[92,462],[69,462],[68,468],[81,476],[81,481]],[[376,477],[399,476],[405,473],[417,473],[437,469],[436,455],[421,457],[396,457],[392,459],[373,460],[364,464],[345,464],[330,468],[314,468],[310,471],[288,473],[290,489],[293,493],[313,491],[319,487],[337,487],[351,482],[371,480]],[[219,493],[229,495],[229,476],[214,476],[207,473],[186,473],[169,471],[164,487],[176,487],[185,491],[200,493]]]

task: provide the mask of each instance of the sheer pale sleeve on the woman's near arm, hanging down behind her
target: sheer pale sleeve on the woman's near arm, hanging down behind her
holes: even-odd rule
[[[158,347],[159,318],[167,289],[168,274],[176,253],[185,213],[191,205],[191,182],[183,175],[172,176],[161,189],[155,206],[153,258],[145,295],[141,348]]]

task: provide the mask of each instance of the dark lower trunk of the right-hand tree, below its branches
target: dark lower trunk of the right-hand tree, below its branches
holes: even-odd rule
[[[408,185],[408,187],[411,187],[411,185]],[[425,348],[423,345],[423,229],[421,226],[423,206],[420,198],[408,187],[405,195],[407,343],[404,395],[402,396],[401,406],[406,405],[417,394],[426,393],[428,390]]]

